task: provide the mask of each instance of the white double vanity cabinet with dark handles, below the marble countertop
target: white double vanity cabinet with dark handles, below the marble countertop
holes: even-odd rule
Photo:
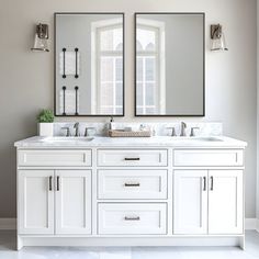
[[[244,144],[101,140],[18,145],[18,248],[244,247]]]

